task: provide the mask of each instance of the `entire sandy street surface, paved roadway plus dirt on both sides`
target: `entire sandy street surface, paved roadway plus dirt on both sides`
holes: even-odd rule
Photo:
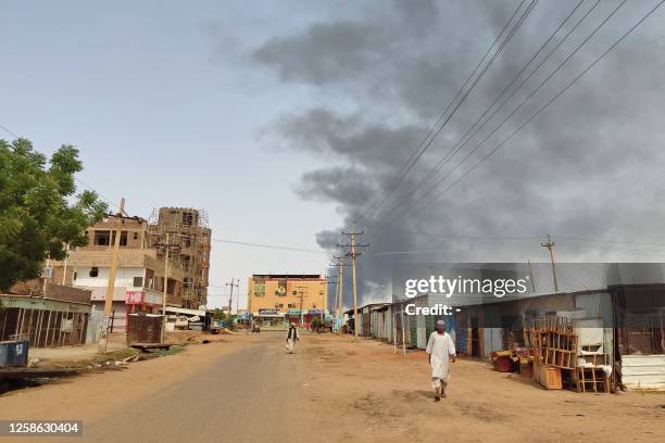
[[[544,391],[469,360],[452,377],[434,403],[423,352],[303,333],[287,355],[262,332],[15,391],[0,417],[80,419],[78,442],[665,441],[662,394]]]

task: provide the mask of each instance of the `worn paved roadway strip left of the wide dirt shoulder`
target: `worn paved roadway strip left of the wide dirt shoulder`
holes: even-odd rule
[[[298,359],[285,353],[281,332],[262,332],[259,344],[216,357],[186,383],[171,384],[113,417],[85,423],[84,440],[294,441],[290,409],[302,394]]]

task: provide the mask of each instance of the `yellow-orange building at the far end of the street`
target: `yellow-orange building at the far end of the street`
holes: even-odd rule
[[[254,274],[247,293],[248,312],[265,326],[309,326],[327,313],[328,284],[319,274]]]

